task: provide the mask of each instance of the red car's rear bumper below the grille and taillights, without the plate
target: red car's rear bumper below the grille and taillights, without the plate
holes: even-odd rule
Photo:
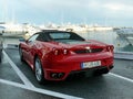
[[[82,68],[82,63],[101,61],[101,66]],[[83,56],[68,56],[61,59],[51,59],[43,64],[44,78],[48,80],[64,80],[71,74],[88,74],[96,70],[109,70],[113,68],[113,54],[102,53]]]

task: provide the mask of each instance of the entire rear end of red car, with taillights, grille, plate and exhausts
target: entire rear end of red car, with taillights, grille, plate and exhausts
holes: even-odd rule
[[[47,79],[64,80],[69,75],[108,73],[113,68],[112,45],[84,45],[70,48],[54,48],[44,63]]]

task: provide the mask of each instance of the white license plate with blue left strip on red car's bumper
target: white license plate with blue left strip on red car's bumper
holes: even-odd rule
[[[92,68],[92,67],[96,67],[96,66],[101,66],[101,61],[96,61],[96,62],[85,62],[81,64],[82,68]]]

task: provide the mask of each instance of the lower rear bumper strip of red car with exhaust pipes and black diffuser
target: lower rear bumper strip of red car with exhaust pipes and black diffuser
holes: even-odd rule
[[[45,69],[44,70],[44,78],[48,80],[64,80],[71,75],[85,75],[88,76],[90,73],[101,73],[106,74],[113,68],[113,65],[108,66],[98,66],[93,68],[85,68],[85,69]]]

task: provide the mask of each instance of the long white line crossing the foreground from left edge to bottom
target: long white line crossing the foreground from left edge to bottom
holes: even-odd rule
[[[51,91],[51,90],[47,90],[47,89],[28,87],[25,85],[9,81],[9,80],[4,80],[4,79],[0,79],[0,82],[6,84],[6,85],[10,85],[10,86],[13,86],[13,87],[27,89],[27,90],[30,90],[30,91],[48,95],[48,97],[52,96],[52,97],[62,98],[62,99],[83,99],[83,98],[80,98],[80,97],[69,96],[69,95],[64,95],[64,94],[61,94],[61,92],[55,92],[55,91]]]

